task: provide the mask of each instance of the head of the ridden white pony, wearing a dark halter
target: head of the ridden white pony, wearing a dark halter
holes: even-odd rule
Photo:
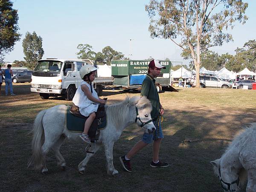
[[[152,105],[151,102],[145,97],[133,97],[136,108],[135,122],[141,128],[145,129],[145,133],[153,133],[156,130],[151,118]]]

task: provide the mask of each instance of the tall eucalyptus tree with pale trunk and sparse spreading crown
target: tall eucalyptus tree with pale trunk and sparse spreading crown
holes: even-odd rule
[[[150,0],[145,10],[151,37],[170,39],[190,55],[199,87],[201,52],[232,41],[227,29],[246,22],[247,7],[243,0]]]

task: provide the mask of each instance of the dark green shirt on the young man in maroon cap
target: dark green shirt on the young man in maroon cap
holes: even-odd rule
[[[140,95],[147,97],[152,104],[151,118],[157,118],[160,115],[160,99],[157,92],[156,80],[149,74],[147,74],[141,85]]]

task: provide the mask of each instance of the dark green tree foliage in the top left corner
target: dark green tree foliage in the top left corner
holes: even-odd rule
[[[7,52],[13,50],[15,42],[20,40],[18,19],[17,10],[12,9],[12,2],[0,0],[0,61]]]

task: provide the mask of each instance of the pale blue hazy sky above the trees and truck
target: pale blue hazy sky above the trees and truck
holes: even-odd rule
[[[229,31],[233,42],[211,50],[218,54],[235,54],[237,47],[255,39],[256,1],[244,2],[249,3],[246,10],[249,20]],[[148,3],[149,0],[13,0],[22,36],[4,61],[24,60],[22,40],[26,32],[35,31],[43,39],[43,58],[77,58],[78,44],[90,44],[95,52],[110,46],[129,57],[132,39],[131,59],[151,56],[188,65],[189,61],[183,60],[181,49],[172,41],[150,37],[145,11]]]

